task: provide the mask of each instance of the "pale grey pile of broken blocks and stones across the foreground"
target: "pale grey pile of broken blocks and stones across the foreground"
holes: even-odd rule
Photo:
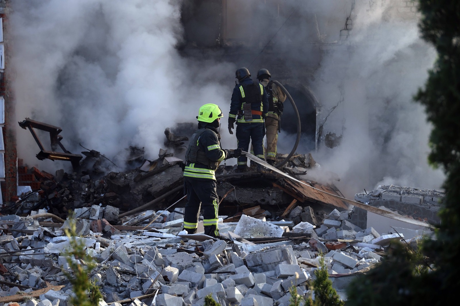
[[[34,219],[35,213],[43,212],[0,216],[0,303],[66,306],[74,294],[64,273],[69,269],[64,256],[69,238],[63,233],[67,221],[57,227],[52,219]],[[292,227],[243,215],[238,222],[221,224],[221,239],[181,231],[183,215],[178,210],[146,211],[121,220],[113,207],[75,213],[78,239],[97,263],[88,278],[103,292],[100,306],[204,305],[207,295],[221,305],[289,305],[292,286],[300,295],[311,294],[309,282],[320,255],[340,294],[350,276],[380,261],[385,246],[395,240],[410,243],[421,234],[380,235],[372,227],[354,226],[349,212],[338,210],[322,224],[299,222]],[[94,232],[93,225],[106,218],[113,225],[103,222],[103,230]],[[116,225],[135,218],[144,220],[134,229]],[[303,238],[289,238],[294,236]],[[265,243],[257,244],[254,238],[266,238]],[[270,239],[274,242],[267,243]]]

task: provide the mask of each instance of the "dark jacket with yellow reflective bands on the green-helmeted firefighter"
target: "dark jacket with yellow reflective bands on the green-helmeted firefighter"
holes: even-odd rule
[[[184,176],[197,180],[216,180],[215,170],[219,163],[230,158],[230,150],[222,149],[219,140],[219,132],[214,127],[199,126],[185,153]]]

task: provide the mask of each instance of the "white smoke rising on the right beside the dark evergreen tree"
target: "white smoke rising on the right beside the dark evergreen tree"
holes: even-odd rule
[[[382,184],[440,189],[444,178],[428,165],[431,126],[413,101],[436,52],[416,19],[385,20],[395,2],[355,7],[344,48],[328,52],[312,85],[326,113],[337,106],[328,120],[343,133],[339,147],[322,147],[317,158],[349,198]]]

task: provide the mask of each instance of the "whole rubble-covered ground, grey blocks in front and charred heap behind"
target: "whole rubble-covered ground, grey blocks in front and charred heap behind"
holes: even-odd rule
[[[165,135],[168,146],[186,140],[168,129]],[[84,153],[78,173],[19,165],[17,202],[3,207],[0,216],[0,303],[69,303],[74,293],[66,277],[69,238],[63,230],[70,212],[79,241],[97,263],[88,278],[102,289],[100,305],[203,305],[209,294],[222,305],[288,305],[292,285],[309,294],[320,254],[334,288],[346,299],[347,284],[372,269],[392,241],[416,247],[422,235],[432,233],[428,223],[378,232],[369,226],[366,209],[355,210],[343,198],[336,175],[321,183],[305,179],[317,164],[311,154],[295,154],[280,167],[290,177],[255,166],[244,173],[220,166],[220,239],[188,235],[182,231],[181,159],[167,150],[154,161],[144,159],[142,150],[130,148],[130,153],[132,169],[108,174],[104,164],[111,161],[96,151]],[[281,162],[287,155],[277,157]],[[436,212],[442,196],[380,186],[355,199],[434,222],[435,213],[424,217],[419,208]],[[412,215],[411,205],[417,205],[418,215]]]

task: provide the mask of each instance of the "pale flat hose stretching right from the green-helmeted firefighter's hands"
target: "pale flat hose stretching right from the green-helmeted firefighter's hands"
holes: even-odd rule
[[[403,215],[398,215],[392,211],[387,211],[387,210],[383,210],[381,208],[378,208],[378,207],[374,207],[374,206],[370,206],[370,205],[367,205],[367,204],[362,204],[362,203],[359,203],[359,202],[356,202],[356,201],[352,201],[352,200],[349,200],[347,198],[343,198],[343,197],[340,197],[336,194],[332,194],[332,193],[327,193],[321,189],[318,189],[318,188],[315,188],[303,181],[299,181],[298,179],[296,178],[293,178],[292,176],[289,176],[288,174],[282,172],[281,170],[278,170],[276,169],[275,167],[271,166],[270,164],[266,163],[265,161],[263,161],[262,159],[259,159],[257,156],[254,156],[253,154],[251,153],[247,153],[247,152],[244,152],[243,151],[243,154],[246,154],[246,157],[248,159],[251,159],[253,162],[257,163],[257,164],[260,164],[262,166],[264,166],[265,168],[268,168],[270,170],[273,170],[275,171],[276,173],[279,173],[281,174],[282,176],[286,176],[288,177],[289,179],[293,180],[293,181],[296,181],[302,185],[305,185],[305,186],[308,186],[310,188],[313,188],[315,189],[316,191],[320,192],[320,193],[325,193],[325,194],[328,194],[334,198],[339,198],[340,200],[350,204],[350,205],[354,205],[356,207],[359,207],[359,208],[362,208],[363,210],[367,210],[367,211],[370,211],[374,214],[377,214],[377,215],[381,215],[381,216],[384,216],[384,217],[387,217],[387,218],[391,218],[391,219],[394,219],[394,220],[397,220],[397,221],[403,221],[403,222],[406,222],[406,223],[410,223],[410,224],[414,224],[414,225],[418,225],[418,226],[421,226],[421,227],[429,227],[429,228],[436,228],[434,227],[433,225],[429,224],[429,223],[425,223],[425,222],[422,222],[422,221],[418,221],[418,220],[415,220],[415,219],[411,219],[411,218],[408,218],[408,217],[405,217]]]

